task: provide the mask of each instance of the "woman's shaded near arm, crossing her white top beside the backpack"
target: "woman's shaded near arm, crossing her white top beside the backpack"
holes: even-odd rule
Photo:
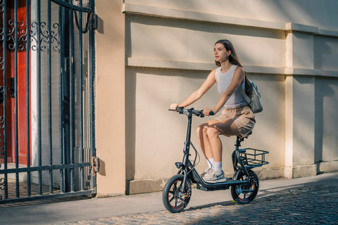
[[[220,97],[220,101],[215,105],[213,108],[213,112],[216,114],[218,111],[220,111],[221,108],[223,108],[223,105],[227,102],[227,99],[230,98],[230,96],[236,91],[240,84],[244,81],[244,68],[237,66],[236,70],[234,70],[234,75],[232,77],[232,82],[227,87],[227,89],[224,91],[223,95]]]

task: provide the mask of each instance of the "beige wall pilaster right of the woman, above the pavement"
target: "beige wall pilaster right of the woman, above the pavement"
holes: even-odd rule
[[[313,34],[287,32],[287,68],[314,68]],[[285,169],[295,178],[317,173],[315,157],[315,78],[289,75],[285,79]]]

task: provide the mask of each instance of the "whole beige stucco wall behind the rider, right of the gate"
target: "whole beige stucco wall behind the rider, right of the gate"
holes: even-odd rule
[[[113,154],[105,157],[108,167],[120,172],[99,175],[99,190],[108,184],[101,183],[104,179],[122,182],[125,174],[127,193],[158,191],[175,174],[174,162],[182,160],[187,120],[169,112],[168,106],[184,101],[215,68],[213,44],[218,39],[234,43],[249,78],[263,96],[264,110],[256,115],[253,134],[244,142],[244,147],[270,151],[270,164],[257,169],[258,176],[291,178],[338,169],[334,113],[338,110],[337,1],[125,0],[107,5],[96,2],[96,8],[105,27],[104,33],[96,35],[96,91],[101,91],[99,82],[104,82],[101,95],[113,96],[96,96],[101,101],[96,110],[107,116],[111,108],[104,101],[125,105],[125,112],[120,109],[123,114],[118,115],[118,124],[125,128],[123,136],[112,128],[101,131],[99,124],[107,126],[108,118],[96,115],[96,139],[102,142],[96,141],[97,151],[106,155],[112,149],[105,147],[106,136],[111,137],[109,143],[117,141]],[[107,51],[110,46],[114,51]],[[124,50],[122,68],[119,54]],[[114,70],[108,72],[111,62]],[[101,81],[99,71],[104,71]],[[112,75],[114,84],[108,89],[106,82],[112,82]],[[213,87],[192,106],[213,107],[218,98]],[[193,127],[204,121],[194,118]],[[223,169],[231,174],[234,137],[221,139]],[[199,150],[194,129],[192,141]],[[197,168],[204,167],[201,155]],[[110,188],[104,188],[105,192],[114,193]]]

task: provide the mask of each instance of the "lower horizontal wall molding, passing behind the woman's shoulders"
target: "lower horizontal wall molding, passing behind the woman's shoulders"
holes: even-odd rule
[[[216,68],[215,63],[184,62],[175,60],[159,60],[149,58],[127,58],[125,63],[128,67],[137,68],[165,68],[173,70],[206,70],[210,71]],[[256,65],[244,65],[246,72],[261,73],[269,75],[309,75],[321,77],[338,77],[338,71],[317,70],[303,68],[279,68]]]

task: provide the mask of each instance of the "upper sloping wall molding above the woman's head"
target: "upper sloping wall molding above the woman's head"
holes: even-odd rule
[[[135,15],[149,15],[161,18],[173,18],[180,20],[195,20],[209,23],[220,23],[245,27],[256,27],[270,30],[307,32],[315,35],[338,37],[338,30],[321,29],[320,27],[301,25],[298,23],[278,23],[266,20],[253,20],[236,18],[226,15],[183,11],[173,8],[161,8],[156,6],[143,6],[138,4],[123,4],[123,13]]]

